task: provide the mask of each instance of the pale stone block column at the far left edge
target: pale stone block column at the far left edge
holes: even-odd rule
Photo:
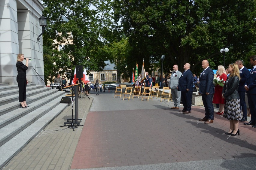
[[[16,0],[1,0],[0,16],[0,82],[17,84],[19,41]]]

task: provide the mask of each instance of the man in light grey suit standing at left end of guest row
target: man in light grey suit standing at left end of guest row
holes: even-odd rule
[[[170,77],[169,89],[171,89],[172,92],[174,106],[171,109],[179,109],[181,103],[181,91],[178,91],[177,87],[182,73],[178,71],[178,65],[174,65],[172,69],[173,72]]]

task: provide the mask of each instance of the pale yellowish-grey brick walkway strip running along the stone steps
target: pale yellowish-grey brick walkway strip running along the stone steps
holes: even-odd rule
[[[79,99],[79,118],[82,124],[87,116],[92,100]],[[3,169],[8,170],[68,170],[83,126],[75,131],[62,126],[71,119],[71,105],[59,114],[44,130],[27,144]],[[74,107],[75,112],[75,107]]]

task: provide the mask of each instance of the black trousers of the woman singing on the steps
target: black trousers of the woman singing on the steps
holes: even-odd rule
[[[16,78],[19,86],[19,101],[26,101],[27,79],[26,74],[18,74]]]

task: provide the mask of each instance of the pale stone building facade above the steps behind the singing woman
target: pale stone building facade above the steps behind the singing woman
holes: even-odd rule
[[[41,0],[0,0],[0,83],[17,84],[17,54],[23,53],[32,59],[29,82],[45,84],[42,36],[37,41],[43,9]]]

